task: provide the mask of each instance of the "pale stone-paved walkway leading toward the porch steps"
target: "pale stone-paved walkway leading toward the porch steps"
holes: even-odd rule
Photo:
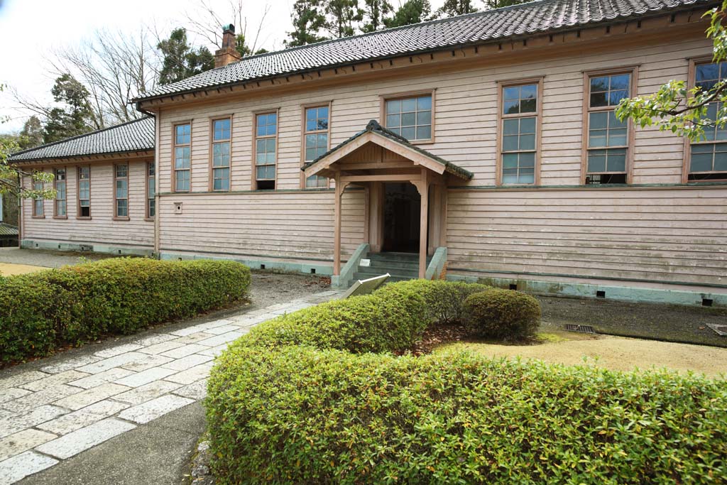
[[[252,326],[337,297],[329,290],[146,337],[39,370],[0,373],[0,485],[204,398],[214,357]],[[3,374],[8,374],[4,377]]]

